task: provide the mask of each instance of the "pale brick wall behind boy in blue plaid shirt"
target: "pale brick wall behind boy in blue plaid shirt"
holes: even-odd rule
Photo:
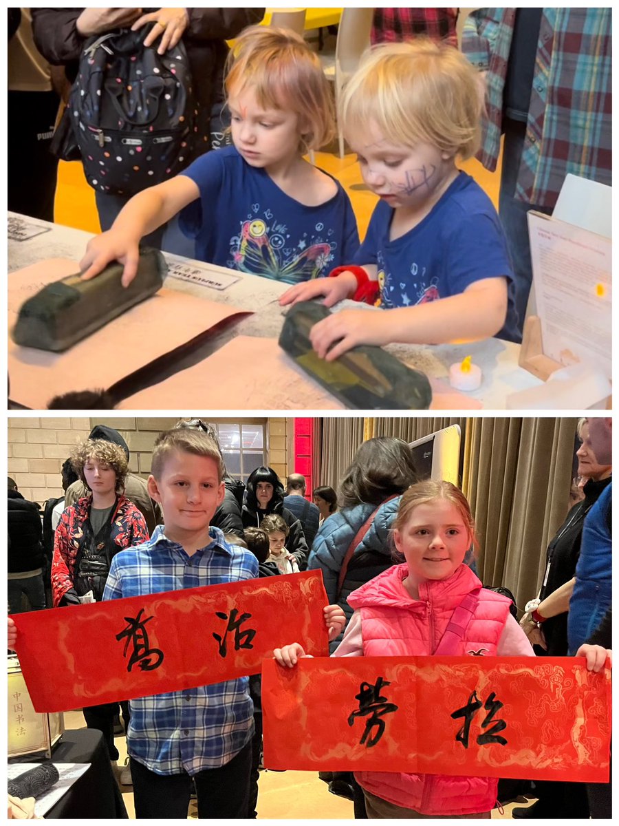
[[[239,419],[215,419],[210,422],[229,423]],[[245,421],[245,420],[243,420]],[[248,419],[264,422],[264,419]],[[94,425],[116,428],[130,449],[130,470],[148,476],[153,455],[154,440],[162,430],[168,430],[177,418],[156,416],[123,416],[104,418],[76,418],[41,416],[8,419],[7,465],[8,475],[17,482],[21,494],[41,504],[50,496],[62,496],[60,468],[74,444],[87,439]],[[288,467],[294,467],[294,440],[288,439],[286,419],[267,419],[267,457],[281,481],[286,484]]]

